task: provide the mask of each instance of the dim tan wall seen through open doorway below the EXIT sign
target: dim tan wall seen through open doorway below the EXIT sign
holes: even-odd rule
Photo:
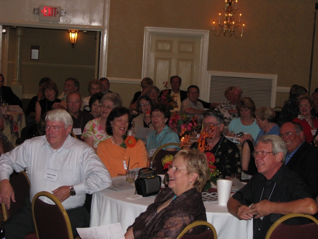
[[[6,85],[14,77],[15,30],[9,30],[9,55]],[[40,46],[40,59],[30,60],[30,46]],[[72,48],[67,30],[25,28],[22,37],[22,84],[23,95],[36,95],[39,81],[50,77],[63,91],[65,79],[74,77],[79,81],[80,94],[87,96],[88,82],[95,75],[94,35],[79,32],[78,41]]]

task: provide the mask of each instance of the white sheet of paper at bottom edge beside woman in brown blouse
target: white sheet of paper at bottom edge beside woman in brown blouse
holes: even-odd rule
[[[120,223],[76,230],[81,239],[125,239]]]

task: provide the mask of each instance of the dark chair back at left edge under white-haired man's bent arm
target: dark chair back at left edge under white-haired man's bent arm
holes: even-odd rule
[[[24,171],[10,177],[10,184],[14,191],[15,203],[11,202],[10,209],[7,209],[4,203],[1,203],[4,221],[19,211],[25,205],[25,198],[30,197],[30,181]]]

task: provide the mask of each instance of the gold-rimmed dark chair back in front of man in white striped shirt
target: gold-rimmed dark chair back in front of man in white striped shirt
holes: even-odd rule
[[[55,204],[43,202],[39,199],[42,196]],[[37,193],[32,200],[32,214],[38,239],[73,239],[69,216],[53,194],[44,191]]]

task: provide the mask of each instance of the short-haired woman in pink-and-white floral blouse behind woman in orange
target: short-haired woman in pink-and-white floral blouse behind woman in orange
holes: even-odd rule
[[[122,100],[117,93],[107,93],[101,98],[100,117],[86,123],[81,138],[97,152],[97,145],[109,138],[106,132],[106,120],[113,108],[122,106]]]

